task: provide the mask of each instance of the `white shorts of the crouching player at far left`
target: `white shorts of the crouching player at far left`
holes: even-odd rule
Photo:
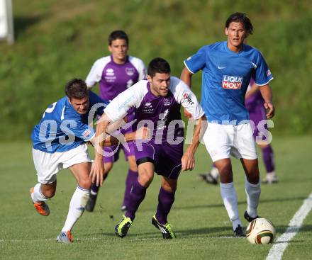
[[[56,174],[80,162],[91,162],[86,144],[66,152],[48,153],[33,149],[33,163],[38,175],[38,182],[52,183],[56,180]]]

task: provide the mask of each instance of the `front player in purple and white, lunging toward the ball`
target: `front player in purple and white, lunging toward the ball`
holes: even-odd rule
[[[184,106],[194,120],[198,121],[192,143],[184,154],[184,122],[181,120],[180,105]],[[135,141],[138,178],[135,179],[131,189],[128,209],[121,222],[116,225],[115,233],[118,237],[126,236],[156,172],[162,176],[162,184],[152,225],[162,232],[164,239],[172,239],[175,234],[167,222],[167,215],[174,203],[180,171],[194,168],[194,153],[199,145],[204,111],[189,86],[176,77],[170,77],[170,66],[162,58],[155,58],[150,62],[147,80],[139,81],[111,101],[101,117],[102,123],[96,127],[96,136],[103,135],[107,125],[126,115],[129,108],[135,110],[136,121],[133,130],[147,125],[153,133],[152,138],[147,142]],[[96,149],[95,162],[91,169],[97,174],[104,171],[100,159],[101,148]]]

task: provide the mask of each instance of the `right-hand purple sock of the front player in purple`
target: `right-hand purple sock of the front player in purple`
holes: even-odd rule
[[[175,191],[172,193],[165,191],[163,188],[160,188],[160,193],[158,194],[156,218],[162,225],[167,223],[167,216],[171,210],[172,204],[174,203],[174,193]]]

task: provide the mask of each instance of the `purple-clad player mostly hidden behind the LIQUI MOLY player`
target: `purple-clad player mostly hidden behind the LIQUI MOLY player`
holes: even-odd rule
[[[253,136],[256,139],[257,136],[262,137],[264,133],[258,129],[260,121],[267,119],[264,109],[264,99],[259,91],[260,86],[255,84],[253,79],[250,80],[246,95],[245,95],[245,106],[249,112],[249,118],[255,124]],[[267,130],[267,124],[264,125],[264,129]],[[262,183],[277,183],[277,175],[275,174],[274,164],[274,152],[272,145],[265,141],[257,142],[257,145],[262,149],[262,159],[264,162],[267,174],[262,180]],[[208,174],[199,174],[201,180],[206,183],[218,184],[219,171],[216,165],[213,164],[211,171]]]

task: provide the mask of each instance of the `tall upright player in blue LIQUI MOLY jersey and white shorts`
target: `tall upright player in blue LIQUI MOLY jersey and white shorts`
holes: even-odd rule
[[[252,34],[252,23],[244,13],[233,13],[225,22],[227,40],[201,47],[184,61],[181,79],[191,86],[191,76],[202,70],[201,106],[208,120],[204,135],[206,149],[220,173],[223,203],[233,223],[235,237],[245,235],[238,215],[238,201],[233,186],[230,154],[239,158],[245,170],[247,210],[244,217],[251,221],[258,217],[260,174],[255,140],[245,108],[245,93],[250,78],[260,86],[267,118],[274,116],[273,79],[259,50],[244,44]]]

